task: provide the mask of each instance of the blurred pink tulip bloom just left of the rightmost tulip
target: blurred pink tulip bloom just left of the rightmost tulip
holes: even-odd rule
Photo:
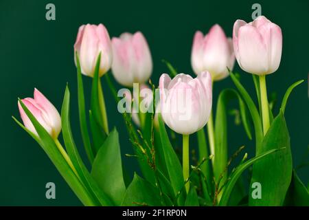
[[[227,67],[233,69],[234,63],[233,43],[220,25],[212,26],[205,36],[200,31],[195,33],[191,64],[196,75],[208,71],[213,80],[221,80],[229,75]]]

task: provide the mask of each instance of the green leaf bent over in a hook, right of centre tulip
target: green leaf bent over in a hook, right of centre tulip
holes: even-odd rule
[[[218,97],[215,121],[216,155],[214,155],[214,177],[216,181],[218,181],[218,177],[227,166],[227,103],[233,99],[238,100],[240,114],[242,115],[242,124],[244,125],[244,130],[251,140],[251,130],[249,118],[247,117],[247,108],[242,101],[242,98],[235,89],[222,90]],[[225,179],[226,176],[223,177],[222,182],[224,182]]]

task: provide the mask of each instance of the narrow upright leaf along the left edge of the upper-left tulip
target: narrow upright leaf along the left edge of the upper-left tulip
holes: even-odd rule
[[[93,151],[91,148],[91,142],[89,137],[89,132],[87,128],[86,120],[86,110],[84,104],[84,85],[82,83],[82,72],[80,68],[80,59],[76,52],[76,66],[77,66],[77,76],[78,76],[78,113],[80,118],[80,132],[82,133],[82,141],[84,143],[84,148],[87,153],[89,162],[93,163]]]

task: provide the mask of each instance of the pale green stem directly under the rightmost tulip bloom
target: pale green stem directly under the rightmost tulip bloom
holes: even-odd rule
[[[269,112],[268,112],[268,100],[267,100],[267,89],[266,89],[266,77],[265,75],[260,76],[260,91],[261,91],[261,102],[262,102],[262,121],[263,121],[263,132],[266,135],[269,129]]]

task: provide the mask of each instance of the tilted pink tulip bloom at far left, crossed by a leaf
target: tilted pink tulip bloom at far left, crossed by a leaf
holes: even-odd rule
[[[34,89],[34,98],[24,98],[22,101],[49,135],[56,139],[61,131],[61,118],[54,105],[49,102],[49,100],[45,98],[38,89]],[[32,131],[32,133],[38,135],[32,122],[27,117],[25,111],[23,111],[19,102],[18,105],[23,124],[27,129]]]

